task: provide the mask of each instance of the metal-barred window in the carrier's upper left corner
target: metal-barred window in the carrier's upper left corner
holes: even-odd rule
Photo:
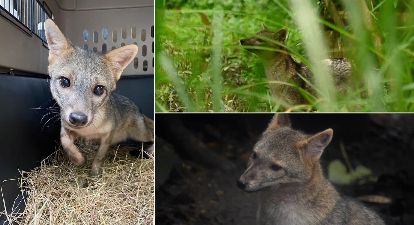
[[[47,48],[44,22],[53,19],[46,2],[39,0],[0,0],[0,15],[29,36],[37,36]]]

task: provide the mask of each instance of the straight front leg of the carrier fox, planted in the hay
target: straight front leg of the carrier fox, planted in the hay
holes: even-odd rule
[[[111,141],[112,135],[101,138],[101,143],[99,145],[98,151],[96,152],[94,162],[92,162],[91,172],[89,173],[87,181],[83,185],[84,188],[96,183],[96,179],[99,177],[99,175],[102,174],[103,160],[105,160],[106,152],[111,145]]]

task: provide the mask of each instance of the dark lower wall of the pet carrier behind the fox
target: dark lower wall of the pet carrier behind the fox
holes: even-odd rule
[[[0,183],[3,191],[0,198],[5,199],[10,213],[20,189],[17,181],[3,181],[20,177],[18,169],[30,171],[57,150],[60,121],[51,119],[52,114],[41,121],[43,115],[50,111],[31,109],[55,104],[45,75],[3,72],[0,71]],[[115,92],[129,97],[143,114],[154,119],[153,87],[153,75],[123,77],[118,81]],[[1,201],[0,212],[3,211]],[[5,215],[0,215],[1,224],[5,219]]]

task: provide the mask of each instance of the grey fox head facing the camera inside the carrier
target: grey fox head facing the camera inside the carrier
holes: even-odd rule
[[[51,19],[45,22],[45,34],[50,49],[50,88],[61,108],[61,120],[75,129],[89,126],[101,117],[99,109],[138,47],[127,45],[107,53],[87,51],[66,39]]]

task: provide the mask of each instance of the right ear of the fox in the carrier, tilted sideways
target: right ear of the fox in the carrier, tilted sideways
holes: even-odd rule
[[[138,46],[135,44],[126,45],[109,51],[104,56],[108,60],[112,73],[116,80],[121,77],[122,71],[137,55]]]

